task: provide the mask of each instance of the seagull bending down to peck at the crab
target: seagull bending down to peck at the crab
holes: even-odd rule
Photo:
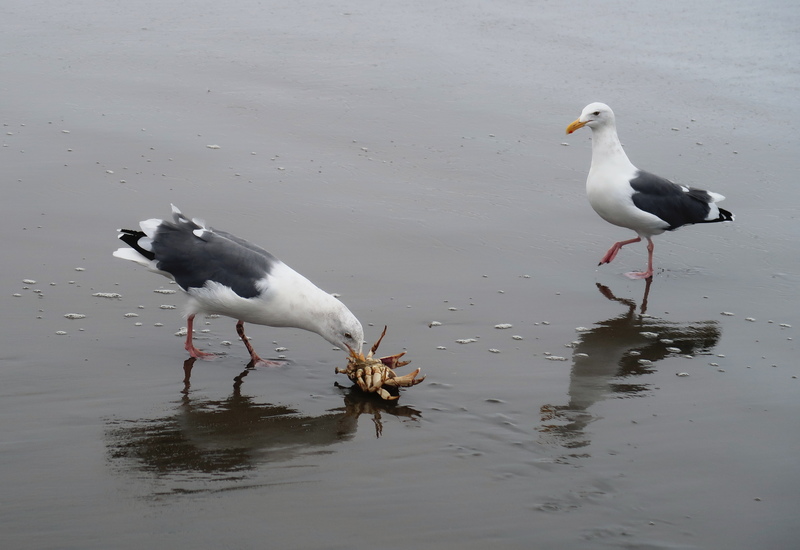
[[[141,231],[120,229],[119,238],[130,248],[120,248],[114,256],[174,279],[189,295],[185,346],[189,355],[213,356],[192,342],[198,313],[237,319],[236,332],[250,352],[252,366],[275,363],[253,350],[244,334],[246,322],[310,330],[343,350],[361,351],[361,323],[334,296],[263,248],[206,227],[202,220],[189,220],[175,205],[172,218],[140,222]]]

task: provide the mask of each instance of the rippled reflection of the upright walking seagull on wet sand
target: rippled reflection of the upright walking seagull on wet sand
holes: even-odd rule
[[[597,284],[604,297],[627,306],[627,311],[580,333],[573,344],[569,403],[541,407],[540,431],[555,434],[560,444],[588,445],[584,429],[595,420],[588,409],[610,396],[643,395],[650,386],[633,377],[653,372],[656,362],[672,355],[707,352],[719,341],[716,321],[681,324],[644,315],[649,282],[642,299],[642,314],[636,313],[634,300],[617,298],[608,287]],[[566,424],[553,424],[554,420]]]

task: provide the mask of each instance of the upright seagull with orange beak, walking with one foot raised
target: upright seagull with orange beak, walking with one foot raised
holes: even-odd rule
[[[645,238],[647,271],[625,275],[631,279],[648,279],[653,276],[650,237],[693,223],[733,221],[733,214],[714,204],[725,198],[719,193],[678,185],[631,164],[622,150],[614,112],[608,105],[587,105],[580,118],[567,126],[567,133],[584,126],[592,129],[592,166],[586,178],[589,204],[607,222],[632,229],[639,235],[614,243],[597,265],[609,263],[620,248]]]

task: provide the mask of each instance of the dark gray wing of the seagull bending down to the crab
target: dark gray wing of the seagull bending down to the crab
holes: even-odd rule
[[[266,250],[224,231],[202,228],[183,216],[176,222],[163,221],[152,246],[158,269],[172,275],[184,290],[214,281],[243,298],[253,298],[260,294],[256,281],[280,262]],[[198,229],[200,236],[195,234]]]

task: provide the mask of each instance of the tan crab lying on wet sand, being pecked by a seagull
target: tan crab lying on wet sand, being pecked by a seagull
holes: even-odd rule
[[[400,361],[400,358],[405,355],[405,352],[398,353],[397,355],[389,355],[388,357],[373,357],[385,335],[386,327],[383,327],[381,337],[378,338],[378,341],[375,342],[375,345],[372,346],[372,349],[366,356],[350,349],[350,357],[347,358],[347,368],[337,368],[336,372],[346,374],[350,380],[358,384],[358,387],[361,388],[362,391],[377,393],[382,399],[394,401],[400,396],[392,395],[387,388],[407,388],[416,386],[425,380],[425,377],[417,378],[419,369],[405,376],[397,376],[393,369],[408,365],[411,362]],[[395,393],[397,393],[396,390]]]

